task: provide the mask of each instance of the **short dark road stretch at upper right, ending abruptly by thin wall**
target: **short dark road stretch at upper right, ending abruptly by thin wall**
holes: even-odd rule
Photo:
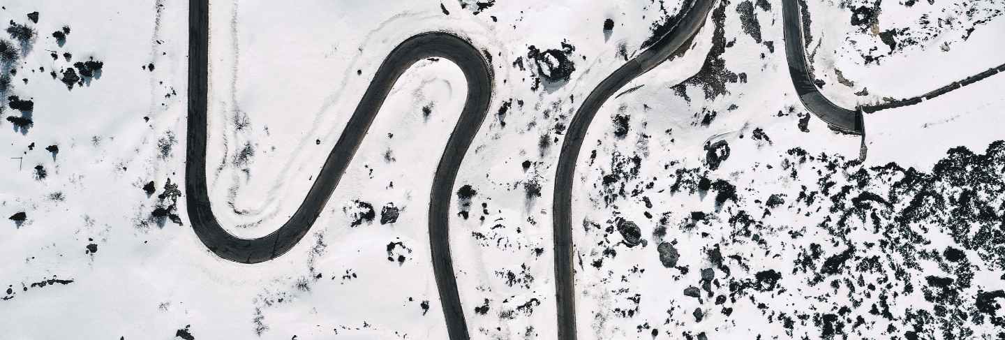
[[[785,56],[789,63],[789,75],[796,88],[799,100],[810,113],[827,123],[831,128],[855,135],[864,135],[862,113],[834,105],[820,94],[813,83],[813,75],[806,65],[806,48],[803,44],[802,18],[796,0],[782,0],[782,23],[785,31]]]

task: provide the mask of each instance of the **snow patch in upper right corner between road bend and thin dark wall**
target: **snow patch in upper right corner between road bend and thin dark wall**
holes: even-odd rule
[[[825,82],[821,92],[847,108],[924,95],[1005,64],[1003,1],[809,1],[807,7],[807,51]]]

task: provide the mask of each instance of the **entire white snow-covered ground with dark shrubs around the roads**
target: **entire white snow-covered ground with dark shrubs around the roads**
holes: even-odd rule
[[[807,2],[814,74],[839,105],[917,96],[1005,63],[1000,1]],[[236,235],[273,230],[383,57],[415,33],[454,32],[490,55],[495,81],[455,184],[475,193],[450,221],[469,331],[554,338],[551,202],[563,132],[680,6],[211,1],[214,211]],[[852,25],[862,7],[881,10]],[[992,143],[1005,140],[1005,74],[866,115],[859,163],[859,137],[799,104],[781,9],[721,0],[687,53],[597,115],[573,195],[579,337],[1001,336],[1005,146]],[[14,27],[0,37],[16,52],[4,56],[10,82],[0,91],[0,216],[12,217],[0,222],[2,338],[445,338],[426,211],[463,106],[459,69],[416,63],[310,234],[276,260],[235,264],[206,249],[178,196],[187,18],[182,0],[0,10]],[[20,25],[34,34],[19,40]],[[52,33],[63,26],[60,43]],[[884,31],[895,31],[896,48]],[[574,64],[568,80],[544,79],[534,51],[550,49]]]

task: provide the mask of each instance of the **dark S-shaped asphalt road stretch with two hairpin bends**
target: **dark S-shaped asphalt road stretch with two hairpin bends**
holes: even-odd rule
[[[444,32],[412,36],[391,51],[374,74],[363,99],[329,154],[321,173],[292,216],[278,229],[258,238],[227,232],[213,215],[206,188],[206,101],[208,91],[209,3],[189,0],[188,147],[185,192],[192,229],[220,258],[257,264],[275,259],[296,244],[318,218],[371,123],[398,77],[427,57],[453,61],[467,80],[467,98],[433,176],[429,199],[429,241],[436,287],[450,339],[468,339],[450,259],[449,207],[453,182],[464,154],[488,113],[492,94],[491,67],[462,38]]]

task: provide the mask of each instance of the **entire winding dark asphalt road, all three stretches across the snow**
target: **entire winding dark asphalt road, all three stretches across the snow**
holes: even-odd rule
[[[689,42],[717,3],[716,0],[686,0],[681,9],[682,15],[673,23],[672,29],[593,89],[566,131],[555,175],[552,213],[559,340],[574,340],[577,337],[572,187],[576,163],[590,124],[598,110],[618,90],[667,60],[670,55],[689,48]],[[450,257],[449,210],[457,170],[491,103],[493,78],[489,62],[470,42],[452,33],[420,33],[401,42],[377,69],[321,172],[315,176],[311,189],[289,219],[265,236],[240,238],[219,224],[207,192],[209,0],[189,0],[189,6],[188,145],[185,166],[188,215],[193,230],[207,248],[220,258],[237,263],[257,264],[278,258],[304,238],[338,186],[392,87],[413,63],[428,57],[440,57],[452,61],[461,69],[467,82],[467,97],[433,176],[428,228],[434,277],[447,333],[452,340],[469,339]],[[783,0],[783,16],[789,71],[804,106],[837,130],[864,134],[860,111],[834,105],[814,86],[807,67],[796,0]],[[991,71],[992,74],[998,70]]]

